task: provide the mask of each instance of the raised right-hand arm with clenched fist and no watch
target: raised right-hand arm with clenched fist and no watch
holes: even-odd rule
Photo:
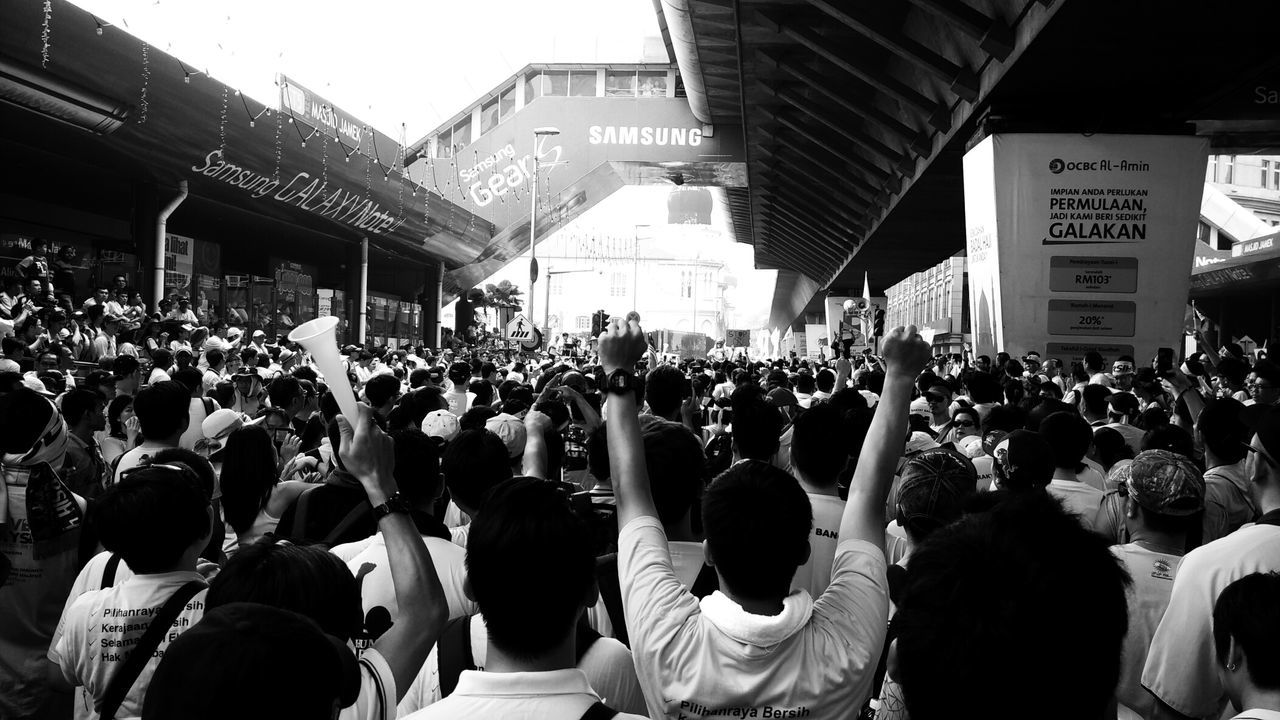
[[[884,392],[876,405],[876,416],[867,430],[867,442],[849,486],[849,501],[840,520],[840,539],[863,539],[883,548],[884,501],[893,469],[902,456],[911,387],[929,361],[931,351],[915,332],[915,325],[908,325],[888,333],[881,352],[884,359]]]

